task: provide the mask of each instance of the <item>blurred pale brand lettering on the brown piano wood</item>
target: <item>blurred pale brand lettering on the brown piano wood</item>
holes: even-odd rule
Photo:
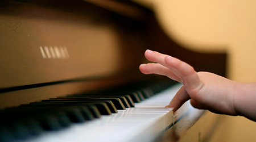
[[[40,46],[40,52],[44,59],[69,59],[68,49],[66,47]]]

